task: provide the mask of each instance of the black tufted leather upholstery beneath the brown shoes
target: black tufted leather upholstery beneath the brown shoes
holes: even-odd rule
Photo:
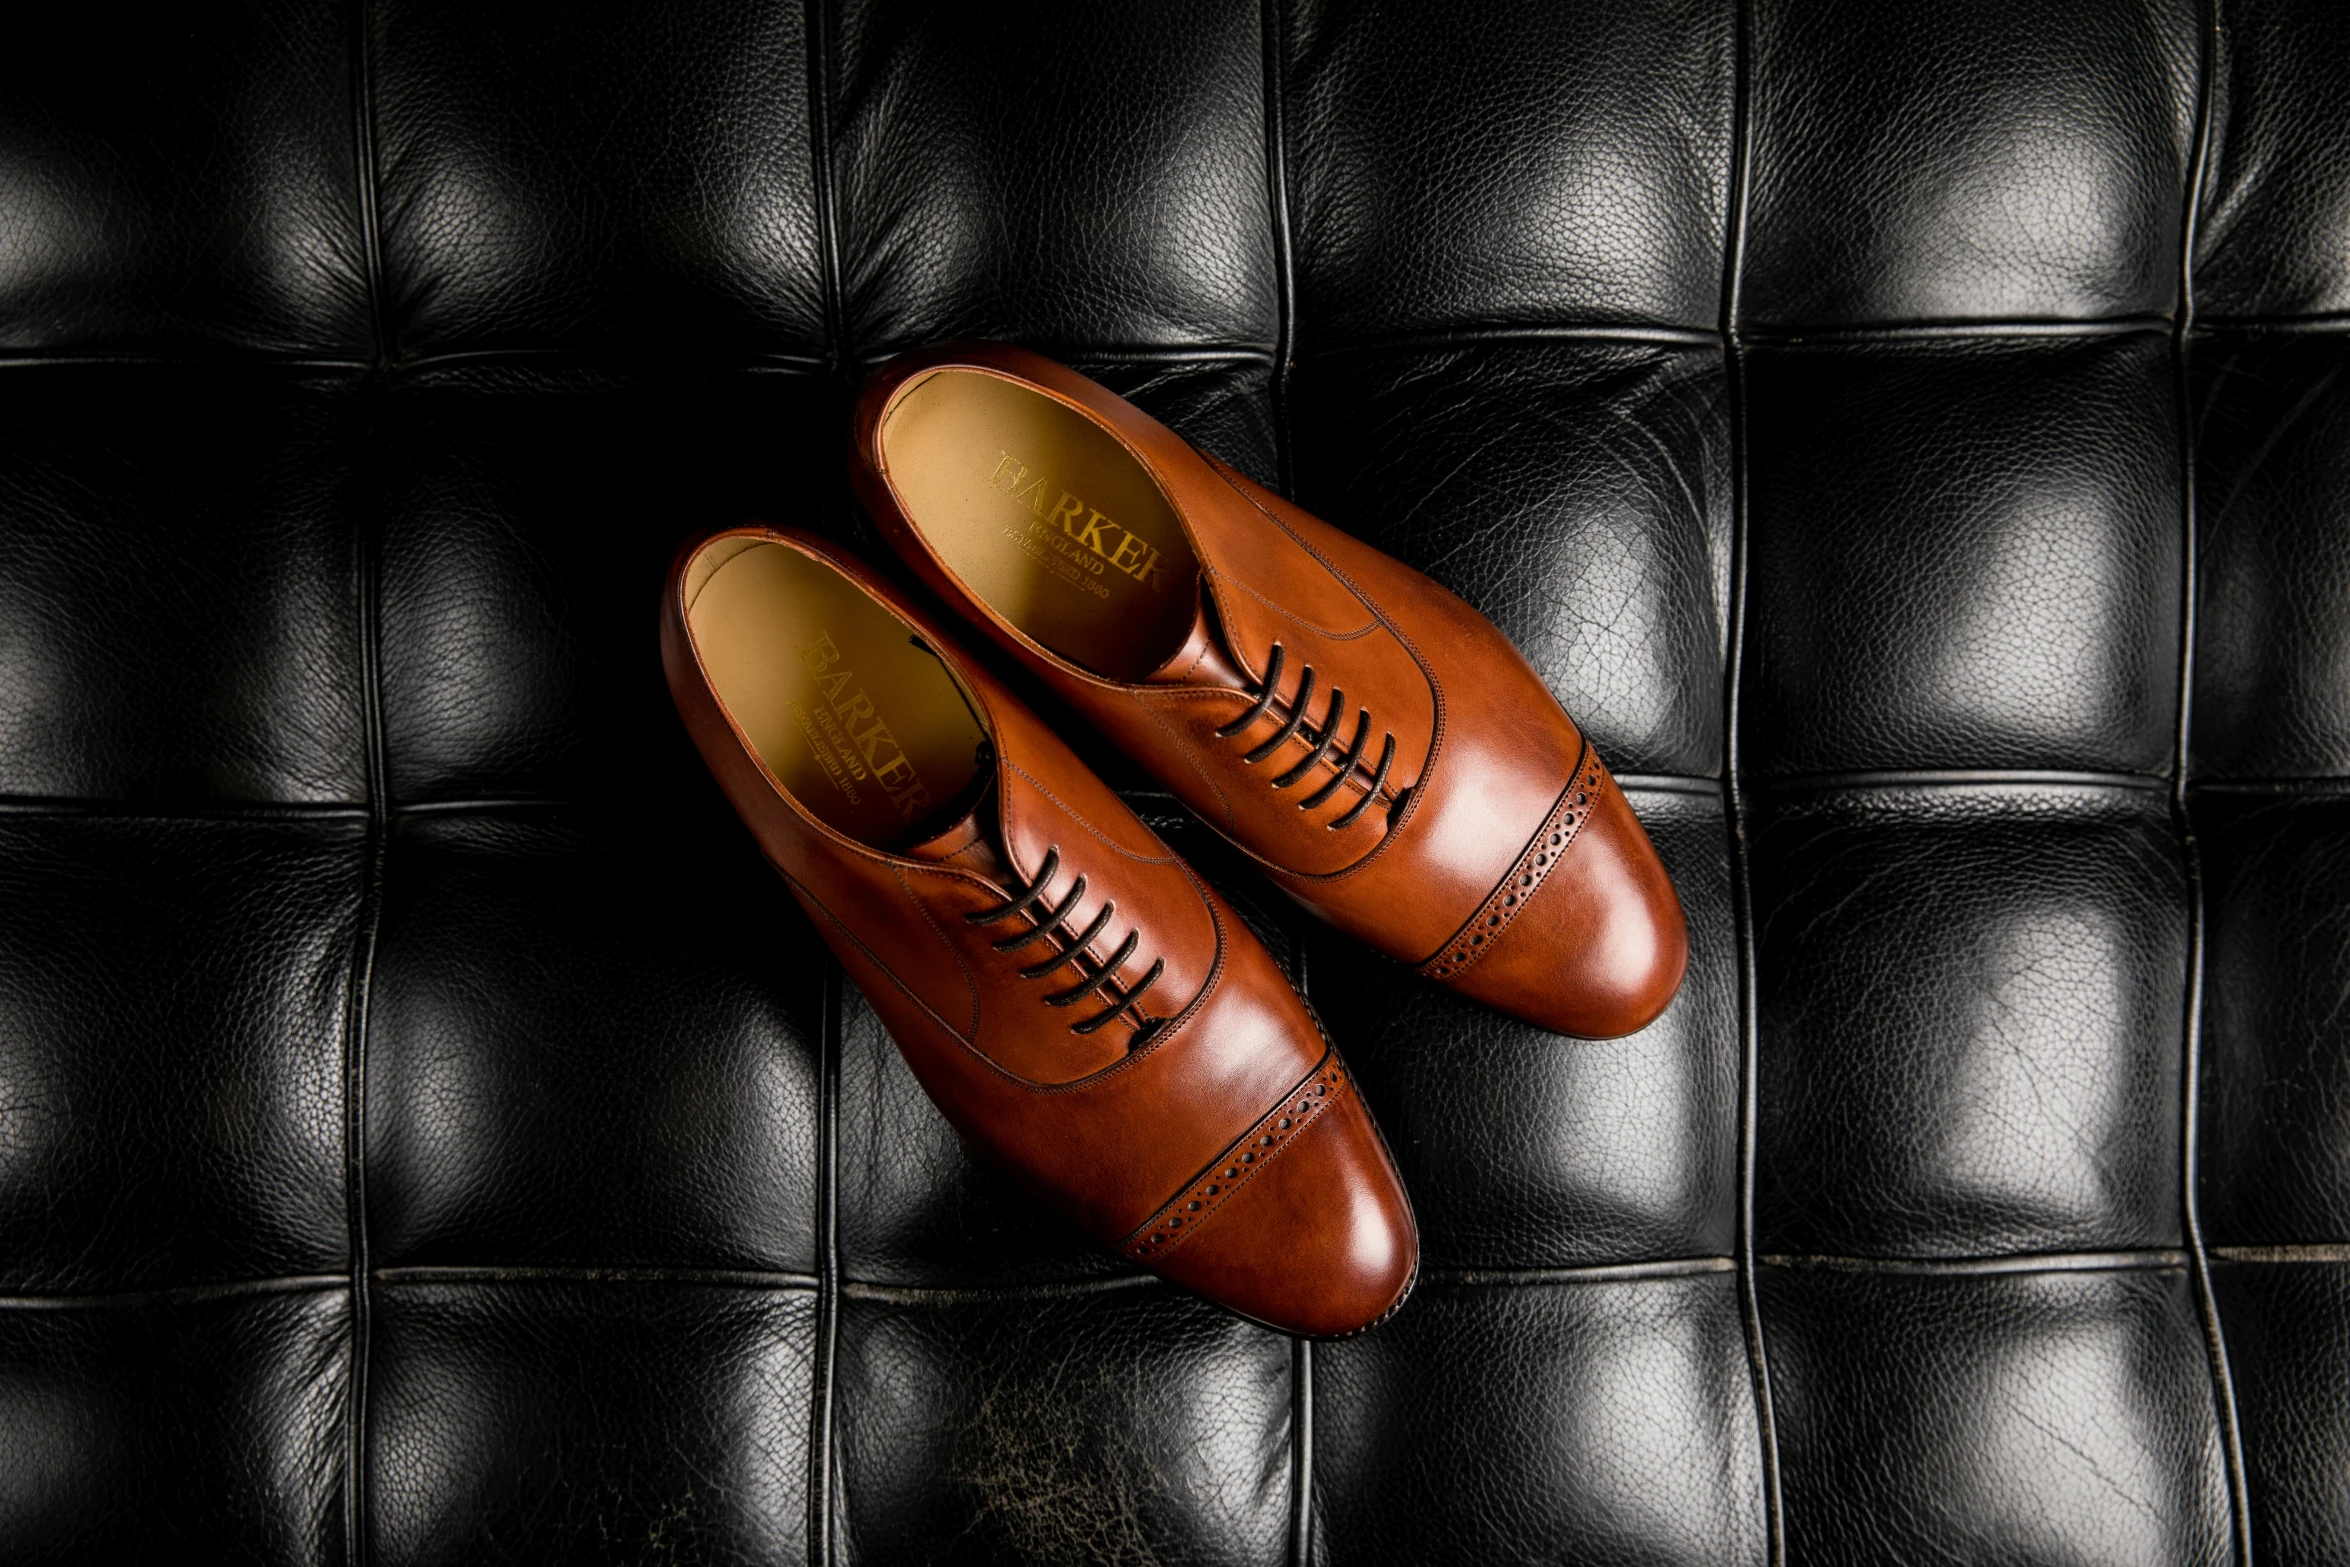
[[[0,1560],[2350,1560],[2336,0],[9,33]],[[1396,1144],[1368,1337],[975,1168],[670,712],[956,334],[1480,604],[1678,876],[1565,1043],[1140,796]]]

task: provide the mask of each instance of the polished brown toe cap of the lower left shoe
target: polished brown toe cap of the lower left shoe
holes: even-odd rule
[[[1328,1339],[1403,1304],[1419,1229],[1379,1128],[1349,1092],[1154,1266],[1267,1327]]]

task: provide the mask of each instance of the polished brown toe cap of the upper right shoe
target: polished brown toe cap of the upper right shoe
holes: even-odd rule
[[[1532,902],[1445,982],[1553,1034],[1619,1038],[1671,1006],[1687,966],[1680,897],[1610,778]]]

